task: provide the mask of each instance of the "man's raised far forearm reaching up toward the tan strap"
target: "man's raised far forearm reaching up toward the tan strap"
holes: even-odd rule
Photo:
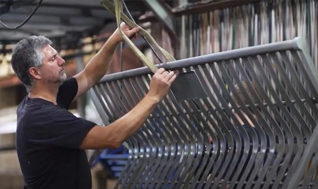
[[[85,74],[90,79],[89,83],[95,84],[106,74],[118,43],[115,37],[111,35],[102,49],[88,62],[85,67]]]

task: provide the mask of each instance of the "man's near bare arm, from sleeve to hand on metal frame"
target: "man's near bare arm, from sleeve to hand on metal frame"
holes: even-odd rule
[[[85,136],[82,149],[118,148],[130,135],[142,127],[155,106],[167,95],[175,72],[160,68],[152,76],[147,95],[131,111],[107,127],[93,127]]]

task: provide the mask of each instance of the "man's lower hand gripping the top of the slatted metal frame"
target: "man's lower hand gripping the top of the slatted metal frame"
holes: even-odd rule
[[[177,72],[167,72],[164,68],[160,68],[152,76],[148,96],[161,101],[168,93],[171,84],[177,77]]]

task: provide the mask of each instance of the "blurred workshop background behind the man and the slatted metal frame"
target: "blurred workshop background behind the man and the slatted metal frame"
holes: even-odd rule
[[[318,2],[315,0],[125,0],[134,20],[176,59],[229,51],[302,36],[318,70]],[[115,16],[99,0],[0,0],[0,188],[23,188],[15,151],[16,107],[27,95],[11,68],[15,44],[30,35],[50,38],[66,60],[68,77],[81,71],[116,29]],[[35,13],[31,15],[32,11]],[[136,46],[153,62],[149,45]],[[161,59],[164,60],[163,57]],[[144,66],[126,43],[118,45],[107,74]],[[88,93],[71,105],[76,116],[103,125]],[[93,188],[112,188],[127,149],[87,151]],[[117,155],[117,156],[116,156]],[[117,157],[117,158],[116,158]]]

